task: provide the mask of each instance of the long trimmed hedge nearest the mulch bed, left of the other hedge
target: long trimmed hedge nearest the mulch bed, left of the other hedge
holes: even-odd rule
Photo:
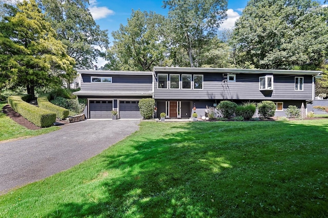
[[[22,100],[26,99],[25,96],[9,96],[8,103],[10,107],[19,113],[20,115],[24,116],[30,122],[35,124],[38,127],[50,127],[56,121],[56,114],[45,110],[39,107],[35,107],[25,101]]]

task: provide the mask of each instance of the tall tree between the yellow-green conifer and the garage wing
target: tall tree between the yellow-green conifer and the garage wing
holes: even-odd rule
[[[67,46],[77,68],[93,68],[93,62],[107,49],[107,30],[100,30],[89,9],[88,0],[39,0],[57,39]]]

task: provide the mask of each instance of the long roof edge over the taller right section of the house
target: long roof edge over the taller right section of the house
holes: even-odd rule
[[[216,72],[222,74],[287,74],[287,75],[320,75],[319,70],[284,70],[284,69],[234,69],[234,68],[203,68],[203,67],[154,67],[160,72]]]

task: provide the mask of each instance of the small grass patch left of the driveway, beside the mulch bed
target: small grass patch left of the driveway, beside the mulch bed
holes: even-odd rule
[[[0,111],[7,104],[7,102],[0,102]],[[6,116],[6,114],[0,112],[0,141],[16,138],[27,138],[49,133],[58,129],[59,127],[49,127],[40,130],[29,130],[14,122],[11,118]]]

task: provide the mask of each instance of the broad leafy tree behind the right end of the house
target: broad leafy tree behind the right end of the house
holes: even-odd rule
[[[263,69],[315,69],[325,59],[325,11],[312,0],[251,0],[236,21],[235,60]]]

